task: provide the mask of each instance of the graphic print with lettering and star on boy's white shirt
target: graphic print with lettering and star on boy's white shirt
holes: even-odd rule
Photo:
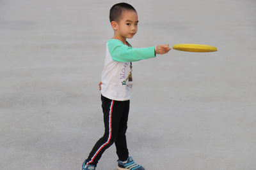
[[[129,66],[129,64],[125,62],[124,67],[121,70],[122,73],[120,73],[120,80],[122,80],[121,81],[122,85],[126,85],[126,89],[130,90],[132,89],[132,63],[130,62],[130,66],[129,66],[131,71],[129,72],[129,75],[125,77],[125,71],[126,69],[129,69],[129,67],[127,66]]]

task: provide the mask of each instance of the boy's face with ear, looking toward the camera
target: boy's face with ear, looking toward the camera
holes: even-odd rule
[[[132,38],[138,31],[138,15],[135,11],[125,10],[118,22],[111,25],[115,30],[115,36],[120,38]]]

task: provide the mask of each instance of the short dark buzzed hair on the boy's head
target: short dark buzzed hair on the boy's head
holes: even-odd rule
[[[127,4],[127,3],[114,4],[112,6],[112,8],[110,9],[110,12],[109,12],[110,22],[119,21],[120,17],[121,17],[121,14],[122,14],[122,11],[124,11],[124,10],[132,10],[132,11],[136,12],[136,10],[133,8],[133,6],[131,6],[131,4]]]

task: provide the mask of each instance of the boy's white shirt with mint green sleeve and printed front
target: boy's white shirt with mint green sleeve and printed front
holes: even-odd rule
[[[118,39],[110,39],[101,76],[101,94],[116,101],[127,101],[132,93],[132,62],[156,57],[154,46],[132,48]]]

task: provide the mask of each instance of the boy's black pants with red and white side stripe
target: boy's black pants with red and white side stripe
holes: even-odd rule
[[[116,153],[119,160],[125,161],[129,157],[125,133],[130,101],[113,101],[104,96],[101,96],[101,101],[105,132],[104,136],[97,141],[92,152],[90,152],[88,159],[86,159],[86,165],[97,166],[102,153],[113,143],[116,145]]]

